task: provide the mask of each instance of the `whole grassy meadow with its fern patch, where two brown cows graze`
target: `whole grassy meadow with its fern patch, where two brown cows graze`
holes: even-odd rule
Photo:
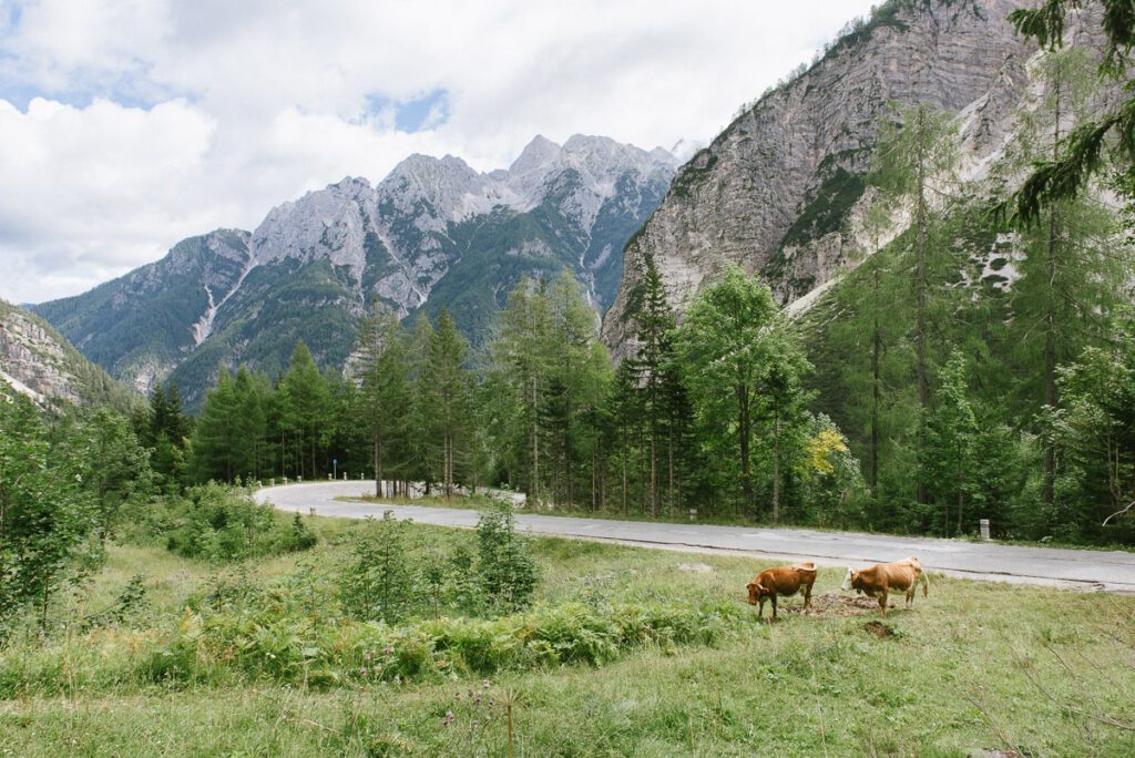
[[[304,520],[317,547],[243,564],[112,546],[57,616],[143,600],[0,650],[0,755],[506,756],[510,716],[515,756],[1135,755],[1135,597],[932,573],[884,621],[821,570],[768,623],[766,562],[537,538],[529,609],[370,623],[335,596],[372,525]]]

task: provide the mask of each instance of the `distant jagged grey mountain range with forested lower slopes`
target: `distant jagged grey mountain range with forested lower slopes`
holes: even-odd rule
[[[605,137],[537,136],[507,170],[411,155],[372,185],[345,178],[217,229],[94,289],[42,303],[87,357],[140,391],[173,378],[196,405],[220,364],[269,373],[297,339],[340,368],[373,300],[400,315],[448,308],[476,343],[524,275],[573,271],[600,309],[622,249],[676,167]]]

